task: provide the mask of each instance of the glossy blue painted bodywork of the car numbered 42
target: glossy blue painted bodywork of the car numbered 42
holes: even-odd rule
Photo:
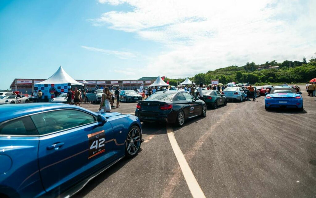
[[[63,109],[84,111],[96,120],[100,114],[67,104],[8,104],[0,106],[0,126],[21,116]],[[101,115],[106,118],[104,125],[95,121],[42,136],[6,136],[0,131],[0,193],[21,197],[58,196],[124,156],[129,129],[132,125],[141,128],[139,119],[119,113]],[[89,134],[90,137],[94,137],[91,134],[104,134],[105,137],[104,151],[92,157]]]

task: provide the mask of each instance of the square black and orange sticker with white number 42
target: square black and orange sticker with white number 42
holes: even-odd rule
[[[88,134],[89,156],[88,159],[105,151],[105,131]]]

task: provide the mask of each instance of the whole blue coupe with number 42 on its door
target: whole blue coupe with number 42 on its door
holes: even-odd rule
[[[60,103],[0,107],[0,197],[69,197],[141,146],[139,119]]]

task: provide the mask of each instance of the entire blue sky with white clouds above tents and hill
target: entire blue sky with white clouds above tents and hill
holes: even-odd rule
[[[236,3],[238,2],[238,3]],[[192,77],[309,59],[315,1],[0,1],[0,89],[14,78]],[[304,31],[302,31],[304,30]]]

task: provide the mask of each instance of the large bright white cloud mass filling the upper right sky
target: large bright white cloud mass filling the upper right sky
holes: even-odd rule
[[[133,8],[106,12],[90,21],[164,44],[144,71],[159,68],[168,77],[193,76],[248,61],[301,60],[316,48],[316,1],[312,0],[99,2]]]

